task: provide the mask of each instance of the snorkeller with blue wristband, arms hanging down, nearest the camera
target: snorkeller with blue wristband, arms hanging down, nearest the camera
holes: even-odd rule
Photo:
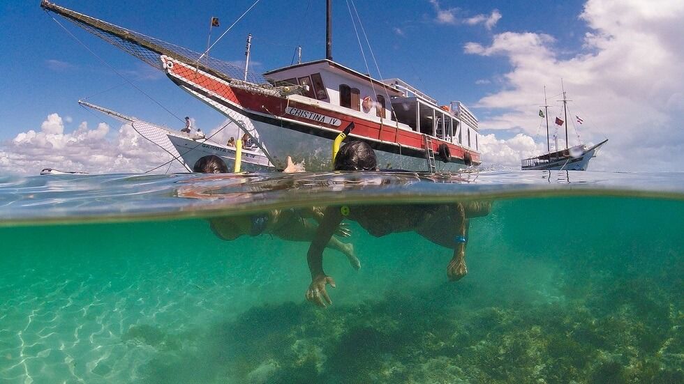
[[[336,171],[375,171],[378,169],[373,149],[363,141],[351,141],[340,148],[334,167]],[[431,242],[454,249],[447,265],[447,277],[456,281],[468,272],[466,268],[466,243],[468,219],[489,214],[489,202],[459,202],[452,204],[409,204],[376,206],[329,206],[322,213],[308,254],[311,284],[306,300],[320,307],[327,307],[332,300],[326,291],[335,281],[323,271],[322,252],[329,238],[343,219],[354,220],[372,236],[415,231]]]

